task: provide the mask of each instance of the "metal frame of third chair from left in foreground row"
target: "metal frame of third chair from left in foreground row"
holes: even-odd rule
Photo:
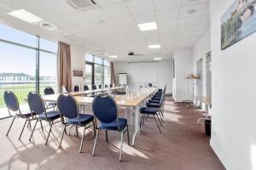
[[[95,122],[92,121],[92,123],[90,124],[90,126],[87,126],[90,122],[89,122],[89,123],[85,123],[85,124],[81,124],[80,116],[79,116],[79,111],[80,111],[80,110],[79,110],[79,104],[78,104],[77,100],[76,100],[71,94],[61,94],[61,95],[69,95],[69,96],[74,100],[74,102],[75,102],[75,104],[76,104],[76,107],[77,107],[77,115],[78,115],[78,117],[79,117],[79,127],[84,127],[83,136],[82,136],[81,144],[80,144],[80,147],[79,147],[79,153],[81,153],[81,152],[82,152],[82,148],[83,148],[83,144],[84,144],[84,133],[85,133],[85,130],[86,130],[87,128],[93,126],[94,135],[96,136],[96,126],[95,126]],[[59,100],[59,98],[61,97],[61,95],[58,97],[57,100]],[[57,103],[57,105],[58,105],[58,104],[59,104],[59,103]],[[59,107],[59,105],[58,105],[58,107]],[[61,111],[60,111],[60,115],[61,115]],[[61,148],[61,142],[62,142],[62,139],[63,139],[63,137],[64,137],[64,133],[67,132],[66,127],[68,127],[69,125],[73,126],[73,124],[69,124],[69,123],[67,122],[67,118],[66,118],[65,116],[62,116],[62,115],[61,115],[61,123],[62,123],[62,125],[63,125],[64,127],[63,127],[63,131],[62,131],[62,134],[61,134],[61,141],[60,141],[59,148]],[[77,131],[77,135],[78,135],[78,125],[75,125],[75,127],[76,127],[76,131]]]

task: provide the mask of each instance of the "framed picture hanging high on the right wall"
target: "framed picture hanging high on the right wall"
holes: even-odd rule
[[[221,18],[221,49],[256,31],[256,0],[235,0]]]

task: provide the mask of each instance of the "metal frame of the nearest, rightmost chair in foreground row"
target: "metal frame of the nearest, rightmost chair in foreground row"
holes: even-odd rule
[[[120,144],[120,150],[119,150],[119,161],[122,161],[122,150],[123,150],[123,141],[124,141],[124,134],[127,132],[127,139],[128,139],[128,144],[130,145],[130,137],[129,137],[129,126],[128,123],[126,125],[126,127],[124,127],[122,130],[120,130],[119,127],[119,109],[118,109],[118,105],[116,103],[116,101],[113,99],[112,96],[108,95],[108,94],[98,94],[99,96],[108,96],[110,99],[113,100],[114,105],[116,106],[116,110],[117,110],[117,116],[116,116],[116,121],[118,124],[118,130],[111,130],[111,131],[118,131],[119,133],[121,133],[121,144]],[[95,98],[96,99],[96,98]],[[94,105],[94,103],[96,102],[95,99],[93,99],[92,101],[92,105]],[[93,107],[92,107],[93,110]],[[93,111],[94,114],[94,111]],[[95,116],[95,121],[96,121],[97,117]],[[92,156],[95,156],[95,150],[96,150],[96,142],[97,142],[97,138],[98,138],[98,134],[101,132],[102,128],[101,127],[97,127],[96,126],[96,139],[93,145],[93,150],[92,150]],[[104,129],[105,130],[105,129]],[[108,129],[110,130],[110,129]],[[108,130],[105,130],[106,132],[106,141],[108,142]]]

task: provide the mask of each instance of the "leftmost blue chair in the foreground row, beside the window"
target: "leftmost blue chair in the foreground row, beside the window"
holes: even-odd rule
[[[11,111],[15,112],[14,119],[13,119],[13,121],[11,122],[11,124],[9,126],[9,129],[8,129],[8,132],[6,133],[6,136],[8,136],[9,131],[10,131],[11,127],[13,126],[16,118],[26,119],[26,121],[25,121],[25,123],[22,127],[21,133],[20,133],[20,137],[19,137],[19,139],[20,139],[21,135],[24,131],[24,128],[26,127],[26,122],[29,122],[29,125],[31,127],[31,121],[33,120],[34,113],[30,112],[30,113],[22,114],[21,111],[20,111],[19,101],[18,101],[16,95],[11,91],[5,91],[4,94],[3,94],[3,99],[4,99],[4,102],[5,102],[5,105],[7,106],[7,109],[9,111],[9,115],[11,115],[10,114]]]

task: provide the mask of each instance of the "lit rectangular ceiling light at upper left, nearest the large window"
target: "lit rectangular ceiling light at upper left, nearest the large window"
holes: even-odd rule
[[[24,9],[11,11],[11,12],[9,12],[9,15],[12,15],[15,18],[18,18],[20,20],[24,20],[28,23],[35,23],[35,22],[39,22],[39,21],[43,20],[40,17],[38,17],[34,14],[31,14]]]

